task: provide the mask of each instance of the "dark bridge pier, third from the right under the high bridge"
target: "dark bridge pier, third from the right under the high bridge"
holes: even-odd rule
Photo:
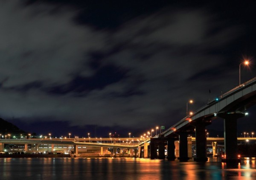
[[[180,162],[186,162],[188,158],[188,138],[186,132],[179,132],[180,135]]]

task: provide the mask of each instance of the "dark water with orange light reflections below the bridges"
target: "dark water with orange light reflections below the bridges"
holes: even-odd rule
[[[0,158],[0,180],[256,180],[256,159],[228,165],[134,158]]]

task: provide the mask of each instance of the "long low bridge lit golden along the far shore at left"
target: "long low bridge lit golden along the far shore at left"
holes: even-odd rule
[[[119,154],[123,149],[127,150],[127,154],[137,156],[138,146],[141,146],[148,138],[31,138],[31,139],[0,139],[0,152],[4,151],[4,144],[15,144],[15,147],[9,151],[22,152],[73,152],[79,154],[79,148],[90,149],[91,152],[99,152],[99,155],[110,154],[108,148],[113,148],[113,155]],[[29,146],[30,145],[30,146]],[[32,147],[33,145],[33,147]],[[21,148],[20,148],[21,147]],[[98,147],[98,148],[93,148]],[[86,149],[86,150],[87,150]],[[130,152],[133,150],[134,153]],[[84,151],[80,151],[83,153]],[[87,152],[87,151],[86,151]],[[124,152],[124,150],[122,151]]]

